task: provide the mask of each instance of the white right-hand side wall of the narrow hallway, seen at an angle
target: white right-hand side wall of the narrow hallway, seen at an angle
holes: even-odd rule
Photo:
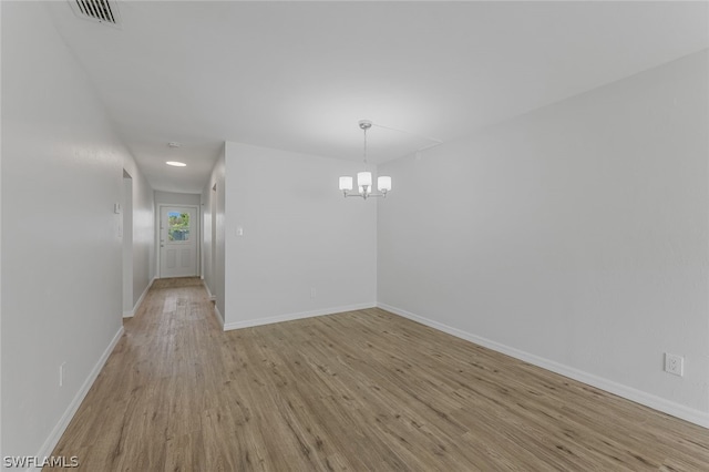
[[[224,222],[225,222],[225,150],[222,148],[207,185],[202,193],[203,202],[203,265],[204,283],[214,297],[219,316],[224,315]],[[213,191],[216,185],[216,191]],[[214,233],[213,233],[214,227]],[[213,237],[214,234],[214,237]],[[214,261],[214,263],[213,263]],[[224,319],[222,319],[224,325]]]

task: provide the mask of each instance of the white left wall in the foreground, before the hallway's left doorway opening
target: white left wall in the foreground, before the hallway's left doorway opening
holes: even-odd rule
[[[1,449],[44,455],[122,332],[132,158],[45,7],[3,2],[1,25]]]

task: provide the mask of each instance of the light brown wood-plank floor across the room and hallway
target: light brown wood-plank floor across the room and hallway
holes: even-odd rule
[[[709,471],[709,430],[380,309],[223,332],[157,280],[54,455],[84,471]]]

